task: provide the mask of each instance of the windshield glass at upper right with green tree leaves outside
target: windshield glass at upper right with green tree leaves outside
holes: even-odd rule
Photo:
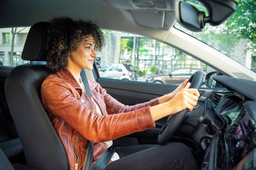
[[[255,0],[236,0],[238,8],[220,26],[206,23],[202,32],[186,30],[178,23],[175,27],[205,42],[216,50],[256,72],[256,2]],[[208,11],[198,1],[189,0],[200,11]]]

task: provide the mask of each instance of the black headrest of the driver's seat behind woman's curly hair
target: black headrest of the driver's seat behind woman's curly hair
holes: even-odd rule
[[[49,23],[35,23],[28,32],[21,58],[28,61],[46,61],[46,31]]]

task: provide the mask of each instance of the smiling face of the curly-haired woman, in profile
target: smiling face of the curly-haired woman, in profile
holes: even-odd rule
[[[92,35],[88,35],[78,43],[77,50],[70,52],[68,57],[68,67],[73,69],[93,69],[93,62],[97,57],[95,51],[95,40]]]

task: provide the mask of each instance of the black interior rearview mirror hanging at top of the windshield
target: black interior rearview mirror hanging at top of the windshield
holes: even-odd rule
[[[209,16],[199,11],[198,8],[186,1],[178,1],[176,4],[176,19],[184,28],[195,32],[201,31],[206,23],[218,26],[230,17],[238,7],[233,0],[198,0],[206,7]]]

